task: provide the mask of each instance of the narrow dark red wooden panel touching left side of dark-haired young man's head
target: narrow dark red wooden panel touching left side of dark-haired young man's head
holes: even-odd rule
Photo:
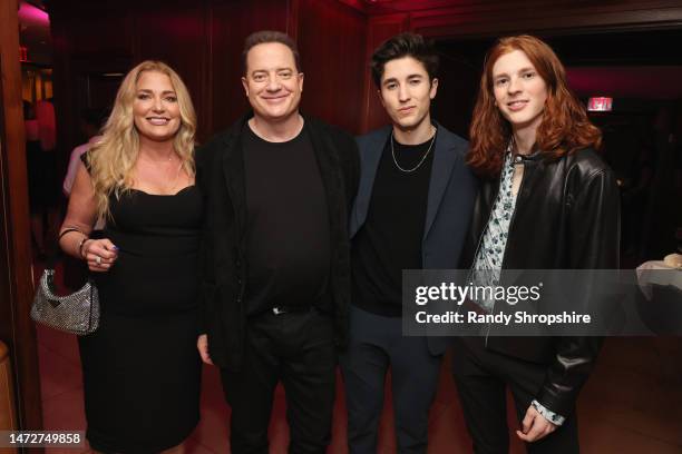
[[[374,49],[390,37],[408,29],[408,14],[390,14],[370,18],[368,24],[368,38],[366,47],[364,98],[362,105],[362,131],[367,132],[389,122],[389,117],[381,106],[378,89],[374,85],[369,61]]]

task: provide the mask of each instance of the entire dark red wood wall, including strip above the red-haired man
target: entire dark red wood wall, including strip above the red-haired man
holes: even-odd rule
[[[388,120],[368,59],[397,32],[413,30],[440,39],[682,26],[679,0],[557,0],[551,6],[544,0],[47,1],[56,47],[59,144],[65,155],[81,139],[78,111],[92,102],[82,95],[88,75],[125,72],[149,58],[167,61],[187,83],[199,119],[199,140],[226,128],[247,107],[240,82],[241,50],[244,38],[255,30],[282,30],[298,39],[306,112],[362,132]],[[441,81],[451,83],[444,87],[446,95],[457,83],[445,77]],[[445,109],[439,106],[438,110]],[[454,125],[462,129],[462,121]]]

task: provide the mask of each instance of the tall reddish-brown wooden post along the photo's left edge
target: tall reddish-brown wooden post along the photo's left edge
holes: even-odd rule
[[[17,0],[0,2],[0,337],[16,367],[19,423],[42,427],[27,197]],[[9,315],[9,316],[8,316]]]

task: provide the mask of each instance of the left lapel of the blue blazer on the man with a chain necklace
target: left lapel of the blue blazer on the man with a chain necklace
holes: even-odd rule
[[[379,132],[368,137],[364,145],[360,148],[360,185],[351,216],[351,238],[360,230],[360,227],[362,227],[367,219],[377,169],[379,168],[379,161],[381,160],[381,154],[383,152],[389,131],[390,127],[382,128]]]

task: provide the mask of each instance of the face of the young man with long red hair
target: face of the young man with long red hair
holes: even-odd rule
[[[537,129],[547,100],[547,83],[526,53],[513,50],[493,66],[495,102],[512,129]]]

